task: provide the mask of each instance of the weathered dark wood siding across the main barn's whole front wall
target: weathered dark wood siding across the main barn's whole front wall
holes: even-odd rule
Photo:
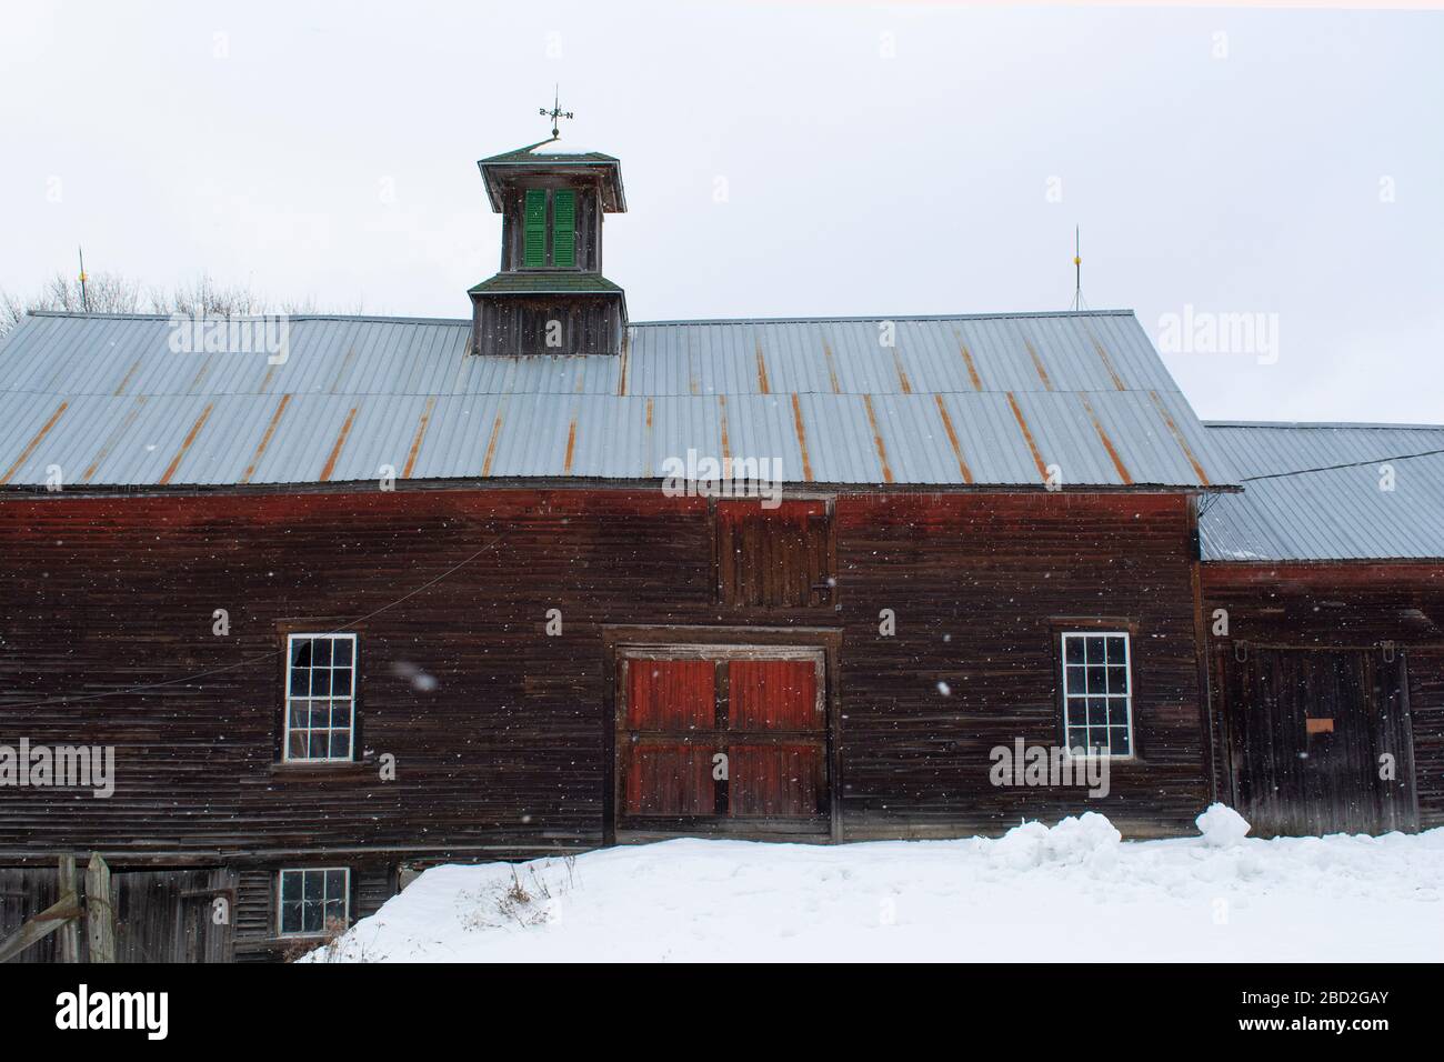
[[[1207,782],[1186,498],[846,496],[833,519],[833,592],[758,610],[718,603],[706,500],[654,490],[6,498],[7,734],[113,744],[118,777],[108,800],[0,789],[0,863],[58,847],[117,865],[221,860],[241,873],[240,942],[270,936],[282,865],[386,878],[409,860],[602,844],[611,624],[658,642],[699,624],[739,643],[840,634],[843,838],[998,834],[1087,809],[1131,834],[1191,828]],[[357,617],[361,760],[277,763],[283,634]],[[993,787],[993,746],[1061,741],[1057,633],[1079,623],[1134,634],[1138,759],[1102,800]]]

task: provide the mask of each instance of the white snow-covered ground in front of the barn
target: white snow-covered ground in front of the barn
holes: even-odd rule
[[[310,961],[1440,961],[1444,829],[1121,842],[679,839],[422,874]]]

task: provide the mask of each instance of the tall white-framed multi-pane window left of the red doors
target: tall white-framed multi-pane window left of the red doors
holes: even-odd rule
[[[286,636],[282,759],[349,760],[355,735],[355,634]]]

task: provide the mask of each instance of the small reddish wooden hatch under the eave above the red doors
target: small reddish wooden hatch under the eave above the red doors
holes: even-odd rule
[[[832,604],[832,520],[826,501],[721,500],[716,507],[718,601],[742,608]]]

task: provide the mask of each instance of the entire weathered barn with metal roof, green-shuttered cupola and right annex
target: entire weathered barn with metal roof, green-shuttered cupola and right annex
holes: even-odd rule
[[[1440,821],[1437,457],[1204,425],[1131,312],[632,322],[619,162],[479,168],[468,318],[3,341],[0,744],[114,769],[0,785],[0,935],[59,854],[121,955],[258,959],[442,861]]]

